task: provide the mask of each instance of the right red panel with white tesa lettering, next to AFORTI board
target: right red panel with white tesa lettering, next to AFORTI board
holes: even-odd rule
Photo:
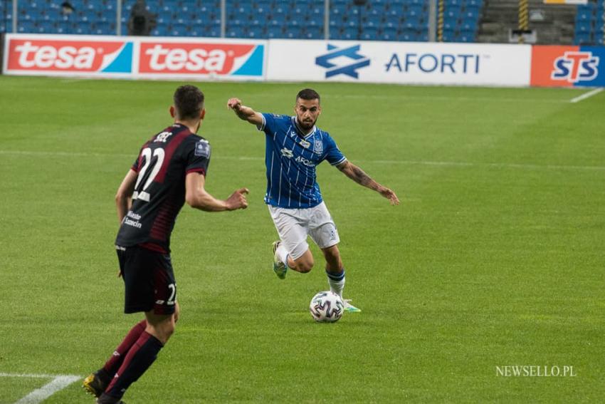
[[[248,56],[255,47],[253,44],[143,42],[139,72],[226,75],[233,70],[236,59]]]

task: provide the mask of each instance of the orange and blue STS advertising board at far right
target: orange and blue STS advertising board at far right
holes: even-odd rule
[[[605,86],[605,46],[533,46],[532,86]]]

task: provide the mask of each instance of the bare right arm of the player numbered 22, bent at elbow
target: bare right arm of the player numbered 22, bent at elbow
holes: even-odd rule
[[[246,209],[247,188],[233,192],[226,200],[217,200],[204,189],[205,178],[199,172],[190,172],[185,177],[185,200],[187,204],[206,212],[222,212],[223,210]]]

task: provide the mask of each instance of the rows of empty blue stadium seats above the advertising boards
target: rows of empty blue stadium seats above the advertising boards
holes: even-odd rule
[[[63,0],[19,0],[19,32],[116,33],[116,0],[72,1],[75,12],[61,16]],[[220,36],[220,0],[146,0],[147,9],[157,14],[153,36]],[[0,18],[5,4],[0,1]],[[122,1],[122,34],[135,0]],[[596,36],[599,4],[578,13],[590,26],[578,24],[577,31],[591,29]],[[474,41],[483,0],[445,0],[444,41]],[[580,10],[581,8],[579,8]],[[8,10],[9,13],[11,9]],[[226,0],[226,36],[230,38],[324,38],[324,0]],[[584,17],[582,17],[584,16]],[[11,17],[0,21],[0,29]],[[361,33],[359,21],[362,23]],[[599,20],[601,21],[601,20]],[[596,25],[595,25],[596,24]],[[381,41],[427,41],[426,0],[368,0],[365,6],[353,0],[330,0],[330,38]],[[582,36],[582,41],[586,35]]]

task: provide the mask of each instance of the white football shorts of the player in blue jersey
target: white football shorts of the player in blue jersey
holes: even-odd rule
[[[298,259],[309,248],[307,236],[320,248],[340,242],[338,230],[324,202],[307,209],[268,207],[280,240],[292,259]]]

